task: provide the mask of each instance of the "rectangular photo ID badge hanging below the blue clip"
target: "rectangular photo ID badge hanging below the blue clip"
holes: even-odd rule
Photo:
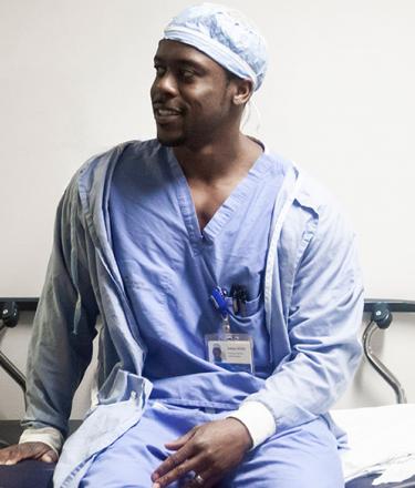
[[[229,372],[253,374],[253,344],[248,334],[208,334],[205,336],[209,363]]]

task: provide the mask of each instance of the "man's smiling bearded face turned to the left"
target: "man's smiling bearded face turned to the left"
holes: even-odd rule
[[[227,73],[209,57],[181,42],[162,40],[154,65],[151,96],[162,144],[197,148],[235,123]]]

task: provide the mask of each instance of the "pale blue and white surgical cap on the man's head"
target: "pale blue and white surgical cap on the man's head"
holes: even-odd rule
[[[215,3],[188,7],[164,31],[164,39],[184,42],[221,67],[261,85],[267,70],[267,45],[261,34],[237,10]]]

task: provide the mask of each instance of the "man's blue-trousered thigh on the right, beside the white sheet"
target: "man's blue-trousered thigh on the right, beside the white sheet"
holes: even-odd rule
[[[220,484],[230,487],[343,488],[336,440],[322,419],[277,434]]]

